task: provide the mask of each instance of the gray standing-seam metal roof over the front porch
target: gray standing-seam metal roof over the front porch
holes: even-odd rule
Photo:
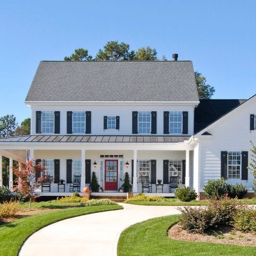
[[[0,138],[0,143],[182,143],[191,136],[28,135]]]

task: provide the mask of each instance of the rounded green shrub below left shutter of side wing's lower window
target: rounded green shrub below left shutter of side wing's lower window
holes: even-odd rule
[[[221,199],[228,193],[228,184],[224,178],[209,180],[203,188],[205,196],[209,199]]]

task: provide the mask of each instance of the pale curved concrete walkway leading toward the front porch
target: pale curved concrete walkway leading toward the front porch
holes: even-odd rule
[[[123,210],[79,216],[38,230],[24,243],[19,256],[116,256],[118,238],[124,229],[179,213],[170,206],[120,204]]]

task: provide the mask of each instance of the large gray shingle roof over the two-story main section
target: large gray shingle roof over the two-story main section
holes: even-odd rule
[[[199,101],[191,61],[42,61],[26,101]]]

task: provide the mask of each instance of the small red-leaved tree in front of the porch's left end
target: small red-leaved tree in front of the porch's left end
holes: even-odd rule
[[[26,164],[21,163],[20,170],[16,168],[14,174],[17,179],[13,191],[21,194],[23,198],[29,199],[29,208],[31,209],[32,199],[37,197],[36,189],[44,181],[44,177],[41,177],[41,172],[45,168],[42,168],[41,163],[35,164],[35,161],[29,160]],[[37,178],[39,176],[39,178]]]

